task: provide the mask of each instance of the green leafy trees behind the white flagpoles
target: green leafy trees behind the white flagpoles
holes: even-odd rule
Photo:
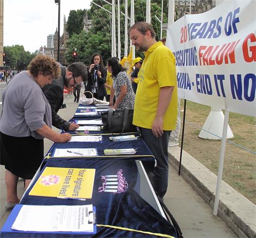
[[[112,11],[110,4],[105,3],[102,0],[93,0],[92,2],[100,5],[108,11]],[[108,0],[109,3],[112,3],[111,0]],[[167,7],[168,0],[163,1],[163,22],[167,23]],[[155,15],[160,19],[161,18],[161,4],[162,0],[151,1],[151,23],[156,32],[156,40],[160,40],[160,22],[156,20]],[[128,12],[130,15],[131,2],[128,2]],[[120,1],[120,10],[124,13],[124,1]],[[82,10],[70,11],[70,17],[68,20],[68,29],[70,34],[70,39],[67,43],[68,50],[66,52],[66,59],[69,63],[73,62],[72,53],[74,49],[77,49],[79,61],[86,64],[89,63],[91,56],[94,52],[98,52],[102,55],[104,63],[108,58],[111,57],[111,18],[112,14],[104,11],[98,6],[91,3],[91,8],[88,10],[89,18],[92,20],[92,28],[88,32],[82,30]],[[86,10],[83,10],[85,12]],[[77,12],[77,13],[75,13]],[[78,22],[79,15],[80,21]],[[135,22],[145,21],[146,14],[146,1],[145,0],[136,0],[135,1]],[[128,21],[130,24],[130,21]],[[129,29],[130,26],[128,26]],[[163,36],[166,33],[163,32]],[[117,6],[116,6],[116,38],[117,38]],[[121,38],[121,58],[123,57],[124,52],[124,16],[120,14],[120,38]],[[128,35],[129,39],[129,35]],[[116,39],[117,42],[117,39]],[[128,42],[130,44],[130,42]],[[117,45],[116,45],[117,47]],[[136,53],[136,57],[144,57],[142,53]]]

